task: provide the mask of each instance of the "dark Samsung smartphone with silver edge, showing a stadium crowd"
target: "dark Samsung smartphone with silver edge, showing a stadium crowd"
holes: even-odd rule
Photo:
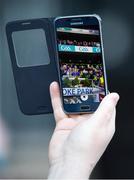
[[[101,18],[59,17],[55,31],[63,109],[67,114],[92,113],[107,94]]]

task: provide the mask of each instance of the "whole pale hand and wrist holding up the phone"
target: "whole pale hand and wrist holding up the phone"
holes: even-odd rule
[[[88,179],[115,132],[117,93],[108,94],[93,114],[67,115],[59,85],[50,85],[56,127],[49,145],[48,179]]]

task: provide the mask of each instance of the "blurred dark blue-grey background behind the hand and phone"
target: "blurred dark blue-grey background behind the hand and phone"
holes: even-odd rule
[[[133,0],[0,0],[0,178],[47,178],[52,114],[21,113],[5,35],[9,21],[96,13],[102,17],[108,86],[117,91],[116,134],[92,178],[134,178]]]

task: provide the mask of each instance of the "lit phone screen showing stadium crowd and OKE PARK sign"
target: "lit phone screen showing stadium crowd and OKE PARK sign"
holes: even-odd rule
[[[58,27],[64,104],[100,102],[105,96],[99,26]]]

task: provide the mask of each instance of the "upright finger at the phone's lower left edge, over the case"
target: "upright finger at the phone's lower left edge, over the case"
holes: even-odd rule
[[[67,115],[63,112],[62,109],[60,90],[57,82],[51,83],[50,96],[56,122],[62,120],[63,118],[67,118]]]

